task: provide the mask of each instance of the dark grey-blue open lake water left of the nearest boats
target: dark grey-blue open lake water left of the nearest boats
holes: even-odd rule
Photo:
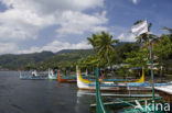
[[[18,71],[0,71],[0,113],[90,113],[94,97],[77,97],[77,90],[76,83],[20,80]]]

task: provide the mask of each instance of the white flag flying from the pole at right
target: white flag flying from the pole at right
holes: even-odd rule
[[[131,32],[136,35],[139,36],[142,33],[147,33],[148,32],[148,23],[147,20],[133,25],[131,27]]]

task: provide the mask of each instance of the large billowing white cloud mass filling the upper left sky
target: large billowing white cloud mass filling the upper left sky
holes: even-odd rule
[[[57,36],[66,35],[67,38],[71,34],[107,31],[106,11],[94,13],[95,8],[104,7],[104,0],[0,0],[0,2],[8,8],[0,12],[0,42],[15,45],[15,49],[21,41],[41,39],[40,31],[52,25],[58,26],[55,30]],[[92,14],[85,13],[85,10],[90,9]],[[66,43],[66,46],[67,44],[69,43]],[[71,46],[76,47],[73,44]],[[31,48],[31,50],[40,49],[40,47]],[[43,48],[47,49],[47,46]]]

